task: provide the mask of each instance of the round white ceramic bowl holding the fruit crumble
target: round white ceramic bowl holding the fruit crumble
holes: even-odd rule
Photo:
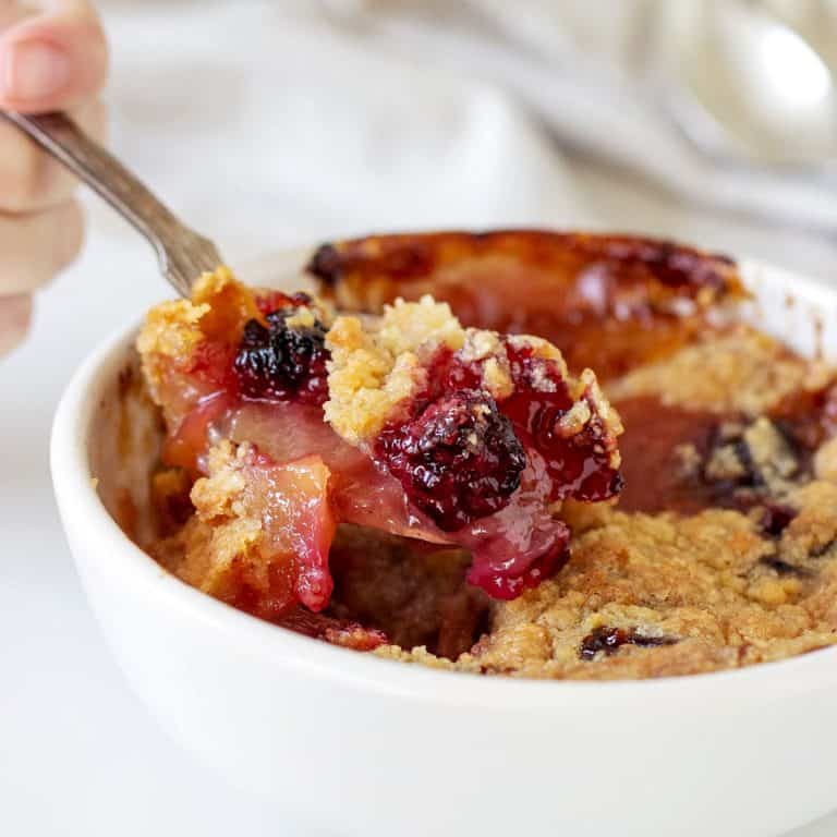
[[[749,316],[837,356],[835,290],[743,274]],[[108,511],[129,494],[142,511],[156,444],[147,408],[120,404],[132,337],[93,353],[56,416],[68,539],[136,693],[282,822],[364,837],[765,837],[837,806],[837,648],[644,682],[480,678],[331,647],[167,574]]]

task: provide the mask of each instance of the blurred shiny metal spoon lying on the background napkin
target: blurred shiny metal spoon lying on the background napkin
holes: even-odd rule
[[[743,0],[656,8],[657,77],[695,146],[756,166],[837,166],[837,82],[792,27]]]

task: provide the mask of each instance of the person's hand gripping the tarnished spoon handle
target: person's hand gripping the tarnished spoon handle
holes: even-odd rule
[[[0,0],[0,108],[69,112],[102,138],[97,95],[107,45],[86,0]],[[29,325],[32,294],[78,253],[75,181],[13,125],[0,121],[0,355]]]

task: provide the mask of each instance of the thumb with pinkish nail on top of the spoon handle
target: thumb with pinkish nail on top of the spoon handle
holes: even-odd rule
[[[107,65],[105,35],[89,3],[53,2],[0,35],[0,107],[70,110],[98,93]]]

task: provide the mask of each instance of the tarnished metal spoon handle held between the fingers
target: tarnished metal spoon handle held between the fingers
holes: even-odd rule
[[[178,293],[215,270],[222,259],[215,244],[186,227],[112,154],[90,140],[63,113],[26,116],[0,110],[44,150],[107,201],[154,247],[160,271]]]

